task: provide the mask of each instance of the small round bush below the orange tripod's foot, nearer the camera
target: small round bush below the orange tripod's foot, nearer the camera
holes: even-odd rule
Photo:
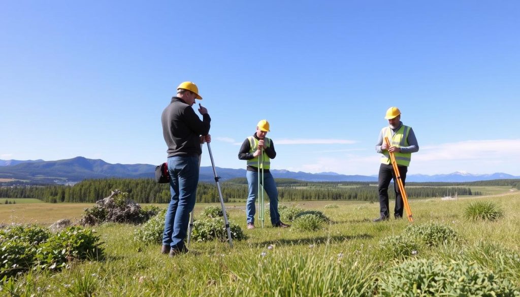
[[[417,254],[420,248],[417,238],[405,235],[388,236],[379,241],[379,254],[391,259],[410,257]]]

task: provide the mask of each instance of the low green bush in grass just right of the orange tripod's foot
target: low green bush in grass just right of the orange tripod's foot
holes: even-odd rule
[[[428,247],[457,241],[457,232],[453,228],[437,223],[408,225],[404,234],[422,240]]]

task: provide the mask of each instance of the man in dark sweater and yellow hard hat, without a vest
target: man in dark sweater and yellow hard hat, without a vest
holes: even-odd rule
[[[199,183],[201,144],[211,142],[210,115],[199,104],[202,121],[193,111],[195,99],[201,99],[199,88],[192,82],[181,83],[161,116],[164,141],[168,147],[168,173],[172,199],[166,210],[161,253],[174,256],[186,253],[184,244],[190,212],[195,205]],[[202,135],[202,136],[201,136]]]

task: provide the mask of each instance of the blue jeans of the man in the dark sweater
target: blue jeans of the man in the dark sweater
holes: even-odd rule
[[[168,157],[172,199],[166,210],[163,246],[184,250],[184,239],[195,206],[199,183],[199,157]]]

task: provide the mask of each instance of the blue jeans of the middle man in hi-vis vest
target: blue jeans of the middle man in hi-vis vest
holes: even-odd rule
[[[248,179],[248,201],[245,203],[245,214],[247,215],[247,222],[255,222],[255,200],[258,195],[258,175],[262,183],[262,173],[258,174],[256,171],[246,171],[245,177]],[[270,172],[264,173],[264,190],[269,196],[269,211],[271,214],[271,224],[275,225],[280,222],[280,214],[278,213],[278,189],[276,188],[275,179],[272,178]]]

